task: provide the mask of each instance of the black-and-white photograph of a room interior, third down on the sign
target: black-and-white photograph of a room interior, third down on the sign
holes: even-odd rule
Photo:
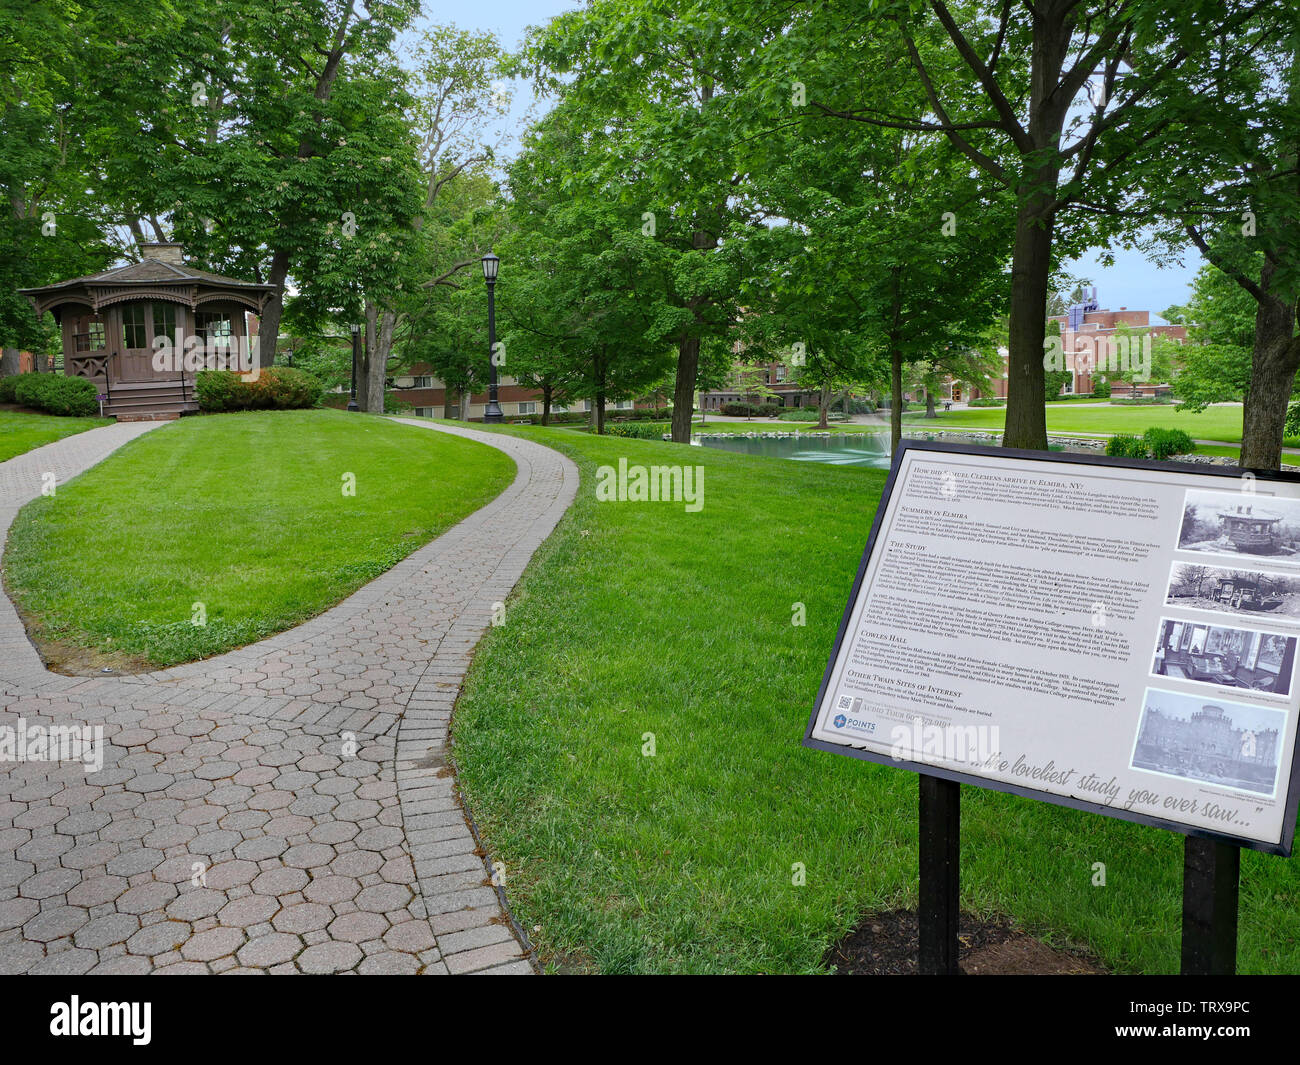
[[[1287,696],[1295,657],[1295,636],[1165,618],[1150,671],[1170,680]]]

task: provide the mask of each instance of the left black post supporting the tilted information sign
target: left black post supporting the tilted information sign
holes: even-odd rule
[[[956,974],[962,785],[920,775],[920,952],[926,975]]]

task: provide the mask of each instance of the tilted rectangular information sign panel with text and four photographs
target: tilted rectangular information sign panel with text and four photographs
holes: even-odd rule
[[[905,442],[805,745],[1290,854],[1300,477]]]

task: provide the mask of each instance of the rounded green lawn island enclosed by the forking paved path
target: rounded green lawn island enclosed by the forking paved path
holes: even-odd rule
[[[318,614],[514,476],[494,449],[377,417],[186,417],[25,507],[5,581],[55,661],[187,662]]]

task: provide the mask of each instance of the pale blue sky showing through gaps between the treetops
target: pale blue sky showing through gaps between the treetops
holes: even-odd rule
[[[491,30],[506,48],[516,48],[529,26],[540,26],[567,10],[581,8],[580,0],[485,0],[465,4],[464,0],[425,0],[424,22],[451,23],[464,29]],[[510,121],[517,124],[533,103],[532,87],[515,86],[515,103]],[[507,147],[507,152],[512,146]],[[1069,225],[1069,217],[1062,220]],[[1200,252],[1190,248],[1182,261],[1167,260],[1157,267],[1140,251],[1114,250],[1114,265],[1102,267],[1097,252],[1091,252],[1066,264],[1074,277],[1086,277],[1097,286],[1097,302],[1102,309],[1150,311],[1152,321],[1162,321],[1160,311],[1174,303],[1186,303],[1192,277],[1200,268]]]

